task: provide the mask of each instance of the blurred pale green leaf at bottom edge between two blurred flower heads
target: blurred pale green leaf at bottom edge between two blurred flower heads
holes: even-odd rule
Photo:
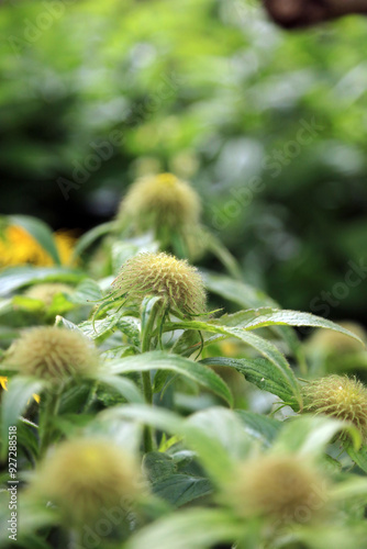
[[[233,544],[245,526],[222,509],[187,509],[143,528],[124,549],[209,549],[215,544]]]

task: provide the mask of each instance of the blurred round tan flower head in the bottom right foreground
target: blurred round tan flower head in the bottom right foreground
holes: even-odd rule
[[[263,456],[244,462],[235,475],[231,498],[241,516],[279,523],[304,523],[324,506],[325,480],[293,455]]]

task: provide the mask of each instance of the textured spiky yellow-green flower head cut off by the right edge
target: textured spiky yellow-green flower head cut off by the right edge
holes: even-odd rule
[[[367,440],[367,389],[346,376],[327,376],[303,386],[304,411],[353,423]]]

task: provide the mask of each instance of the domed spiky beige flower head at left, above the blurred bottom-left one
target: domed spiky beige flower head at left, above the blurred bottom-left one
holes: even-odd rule
[[[92,374],[98,354],[81,333],[55,326],[31,328],[7,351],[4,366],[51,381]]]

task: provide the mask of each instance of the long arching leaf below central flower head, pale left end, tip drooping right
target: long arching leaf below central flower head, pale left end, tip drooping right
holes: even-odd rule
[[[233,402],[230,389],[213,370],[200,362],[193,362],[178,355],[168,355],[163,351],[144,352],[143,355],[107,362],[107,369],[109,373],[144,372],[151,370],[174,371],[210,389],[230,405]]]

